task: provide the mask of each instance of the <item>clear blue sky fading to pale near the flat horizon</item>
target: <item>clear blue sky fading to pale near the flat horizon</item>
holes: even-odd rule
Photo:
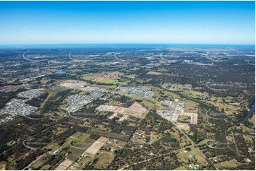
[[[0,1],[0,44],[255,44],[255,1]]]

